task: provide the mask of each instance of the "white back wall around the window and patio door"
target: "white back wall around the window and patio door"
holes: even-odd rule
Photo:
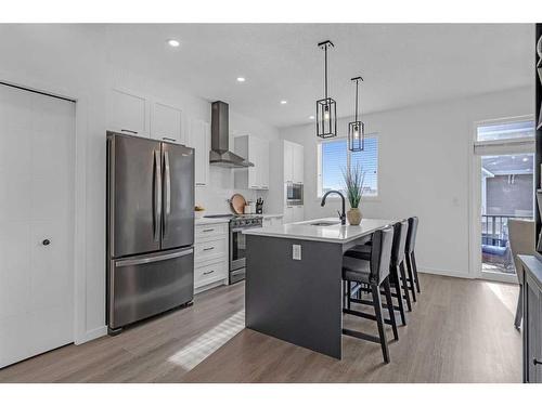
[[[470,276],[469,165],[474,123],[532,115],[533,100],[533,90],[527,88],[364,116],[366,131],[379,134],[379,198],[362,202],[363,215],[418,215],[418,266],[426,272]],[[339,120],[340,134],[346,134],[347,122]],[[281,136],[305,145],[306,218],[336,215],[338,200],[321,208],[317,198],[313,123],[281,129]]]

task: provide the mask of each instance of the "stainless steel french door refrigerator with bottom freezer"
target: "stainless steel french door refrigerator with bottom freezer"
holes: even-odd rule
[[[107,131],[107,326],[190,303],[194,149]]]

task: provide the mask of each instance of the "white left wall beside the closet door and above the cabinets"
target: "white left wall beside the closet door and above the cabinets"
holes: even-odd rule
[[[14,40],[16,39],[16,40]],[[108,62],[105,32],[78,25],[1,25],[0,81],[77,99],[76,105],[76,342],[105,333],[105,131],[106,94],[113,86],[151,95],[182,108],[184,117],[210,122],[210,103],[156,77],[118,69]],[[231,128],[275,140],[276,129],[235,114]],[[183,130],[185,131],[184,120]],[[214,168],[210,185],[196,201],[222,211],[220,196],[232,192],[233,175]],[[282,185],[270,184],[269,194]]]

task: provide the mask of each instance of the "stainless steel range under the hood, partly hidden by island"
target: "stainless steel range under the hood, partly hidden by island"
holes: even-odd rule
[[[246,240],[243,230],[261,227],[262,217],[254,214],[216,214],[206,218],[230,218],[230,285],[246,275]]]

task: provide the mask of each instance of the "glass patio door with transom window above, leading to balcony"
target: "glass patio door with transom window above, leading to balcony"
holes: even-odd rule
[[[533,219],[533,126],[522,118],[476,127],[470,243],[475,276],[517,280],[508,221]]]

